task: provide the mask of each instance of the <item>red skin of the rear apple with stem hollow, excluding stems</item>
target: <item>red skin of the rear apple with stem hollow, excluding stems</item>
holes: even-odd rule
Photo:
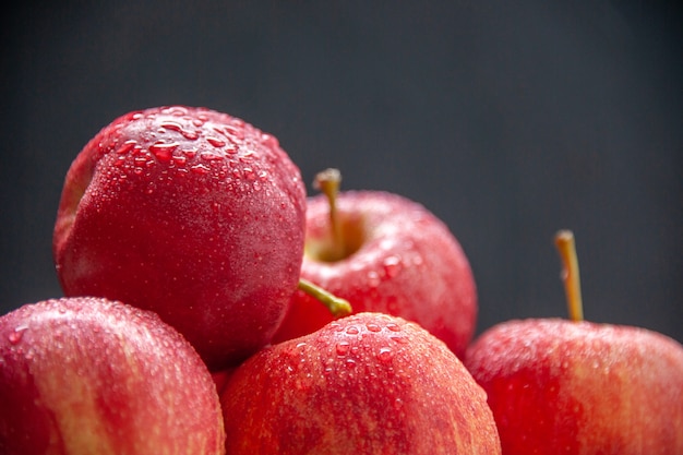
[[[383,312],[415,321],[462,356],[476,330],[477,289],[469,262],[446,225],[424,206],[382,191],[346,191],[337,197],[344,236],[357,239],[348,258],[325,262],[331,240],[328,202],[309,199],[301,277],[347,299],[355,312]],[[321,328],[333,320],[301,291],[276,342]]]

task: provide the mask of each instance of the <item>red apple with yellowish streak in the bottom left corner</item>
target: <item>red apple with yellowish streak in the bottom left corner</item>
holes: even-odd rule
[[[0,318],[3,455],[224,454],[206,366],[159,318],[96,298]]]

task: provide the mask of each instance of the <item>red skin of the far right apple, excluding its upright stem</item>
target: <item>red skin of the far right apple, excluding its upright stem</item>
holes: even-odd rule
[[[465,364],[504,454],[683,454],[683,346],[661,334],[510,321],[481,334]]]

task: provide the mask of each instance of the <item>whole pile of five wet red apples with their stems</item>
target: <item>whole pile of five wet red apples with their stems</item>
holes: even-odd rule
[[[683,346],[571,320],[472,339],[444,223],[381,191],[307,196],[227,113],[127,113],[75,157],[63,296],[0,316],[0,454],[683,454]]]

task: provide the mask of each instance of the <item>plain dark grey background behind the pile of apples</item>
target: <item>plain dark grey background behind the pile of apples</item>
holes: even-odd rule
[[[127,111],[185,104],[275,134],[307,182],[334,166],[344,189],[424,204],[470,259],[480,331],[566,314],[552,236],[571,228],[586,318],[683,342],[682,15],[674,4],[5,8],[0,309],[61,295],[51,231],[81,147]]]

